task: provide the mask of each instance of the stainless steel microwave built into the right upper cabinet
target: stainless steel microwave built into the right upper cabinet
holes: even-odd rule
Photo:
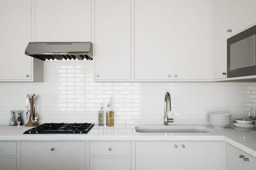
[[[227,39],[227,77],[256,75],[256,25]]]

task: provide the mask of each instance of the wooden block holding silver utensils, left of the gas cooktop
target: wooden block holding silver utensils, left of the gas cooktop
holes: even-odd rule
[[[38,126],[38,114],[36,112],[36,103],[38,102],[38,95],[37,94],[28,94],[27,95],[27,122],[25,126]],[[29,106],[28,106],[29,103]],[[29,109],[30,108],[30,109]]]

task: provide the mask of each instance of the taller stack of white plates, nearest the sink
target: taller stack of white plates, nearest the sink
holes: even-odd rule
[[[208,113],[207,122],[216,128],[225,128],[231,123],[229,113]]]

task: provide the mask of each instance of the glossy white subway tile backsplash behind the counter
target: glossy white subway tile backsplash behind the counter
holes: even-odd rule
[[[39,95],[39,123],[95,122],[110,95],[119,127],[163,124],[164,93],[171,93],[176,124],[207,124],[207,112],[246,116],[256,107],[256,83],[96,83],[92,61],[46,61],[43,83],[0,83],[0,124],[10,110],[26,111],[26,94]],[[24,120],[24,119],[23,119]]]

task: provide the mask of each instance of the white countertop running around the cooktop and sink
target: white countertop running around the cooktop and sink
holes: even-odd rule
[[[0,140],[172,140],[172,141],[226,141],[256,157],[256,131],[217,129],[213,133],[138,133],[134,128],[95,125],[88,134],[23,135],[32,127],[0,125]]]

